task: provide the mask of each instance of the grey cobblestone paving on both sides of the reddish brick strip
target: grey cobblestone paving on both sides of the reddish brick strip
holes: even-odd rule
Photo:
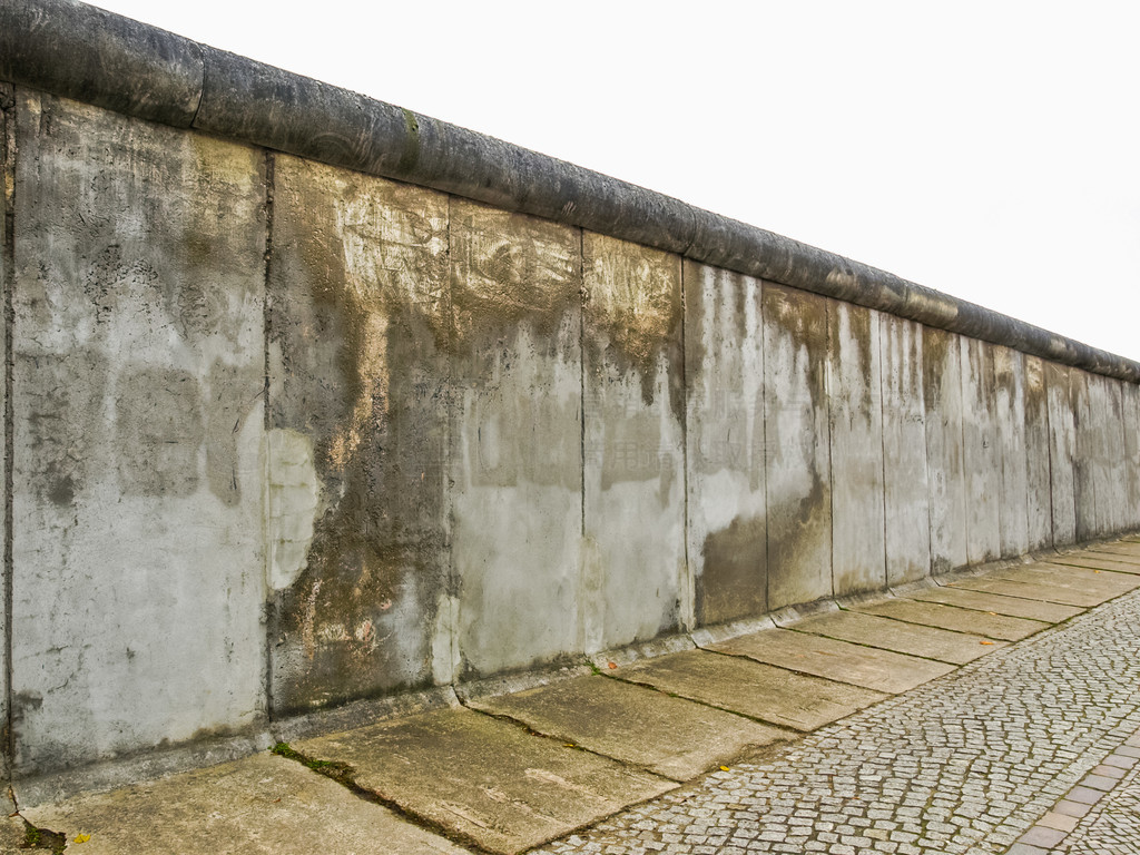
[[[537,852],[1005,853],[1140,727],[1138,650],[1133,593]],[[1074,855],[1117,852],[1132,784]]]

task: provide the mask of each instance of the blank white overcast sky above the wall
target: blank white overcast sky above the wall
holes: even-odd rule
[[[1140,3],[104,8],[1140,359]]]

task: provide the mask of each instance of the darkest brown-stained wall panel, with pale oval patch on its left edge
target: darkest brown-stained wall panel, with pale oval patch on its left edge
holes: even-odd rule
[[[429,684],[437,653],[451,676],[447,204],[275,156],[277,714]]]

